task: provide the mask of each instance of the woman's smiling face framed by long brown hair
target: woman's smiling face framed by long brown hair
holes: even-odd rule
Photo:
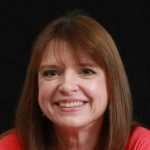
[[[56,126],[99,125],[108,105],[105,73],[85,54],[77,62],[69,51],[67,43],[47,47],[38,72],[40,108]]]

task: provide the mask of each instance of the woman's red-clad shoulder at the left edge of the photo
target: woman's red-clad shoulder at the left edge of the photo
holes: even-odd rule
[[[0,135],[0,150],[21,150],[19,139],[14,130]]]

